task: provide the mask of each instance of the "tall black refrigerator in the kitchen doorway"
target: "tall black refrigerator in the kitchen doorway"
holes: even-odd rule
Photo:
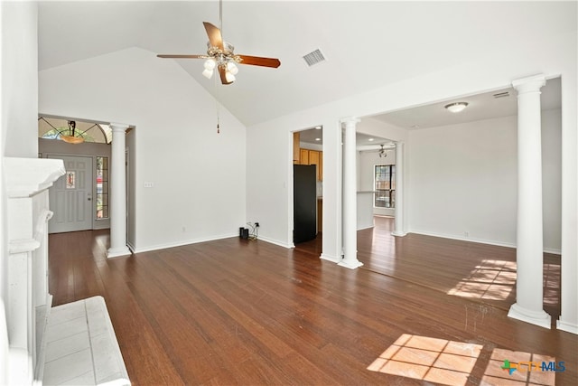
[[[293,165],[293,242],[315,239],[317,234],[317,169]]]

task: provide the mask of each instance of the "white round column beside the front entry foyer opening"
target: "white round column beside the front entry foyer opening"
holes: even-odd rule
[[[108,258],[130,255],[126,246],[126,129],[128,125],[111,123],[110,165],[110,248]]]

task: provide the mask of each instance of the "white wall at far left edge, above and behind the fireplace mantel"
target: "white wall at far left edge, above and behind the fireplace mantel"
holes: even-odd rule
[[[4,157],[36,157],[38,142],[38,37],[34,2],[0,2],[0,298],[7,295],[7,227]],[[7,383],[4,307],[0,306],[0,384]]]

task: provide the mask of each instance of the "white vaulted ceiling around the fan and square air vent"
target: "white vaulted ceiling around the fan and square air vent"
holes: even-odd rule
[[[226,1],[224,39],[236,53],[279,58],[281,66],[239,66],[237,81],[222,86],[201,76],[203,61],[178,63],[250,126],[475,61],[519,42],[554,40],[576,30],[574,3]],[[129,47],[153,56],[202,54],[203,21],[219,25],[218,1],[40,2],[39,69]],[[303,55],[315,49],[327,61],[308,67]],[[479,100],[471,101],[473,114]],[[417,113],[380,119],[400,126],[433,122]]]

